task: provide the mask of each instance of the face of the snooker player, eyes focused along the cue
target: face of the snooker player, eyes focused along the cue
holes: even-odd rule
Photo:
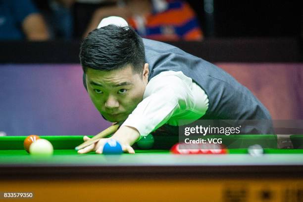
[[[134,72],[131,65],[110,71],[88,68],[87,90],[94,105],[107,121],[121,122],[142,101],[148,74],[148,64],[144,65],[142,74]]]

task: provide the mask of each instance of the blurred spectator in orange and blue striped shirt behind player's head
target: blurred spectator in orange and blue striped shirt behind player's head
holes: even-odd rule
[[[98,8],[84,37],[102,18],[120,16],[144,38],[155,40],[202,40],[195,12],[182,0],[118,0],[117,5]]]

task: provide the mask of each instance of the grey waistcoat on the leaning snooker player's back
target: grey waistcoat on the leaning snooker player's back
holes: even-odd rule
[[[208,109],[202,119],[270,120],[262,103],[223,69],[181,49],[149,39],[143,39],[149,79],[162,71],[182,71],[206,93]]]

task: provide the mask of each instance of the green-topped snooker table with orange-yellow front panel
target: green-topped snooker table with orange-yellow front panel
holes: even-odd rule
[[[252,144],[262,143],[263,137],[243,138],[250,138]],[[296,137],[302,139],[302,135]],[[82,136],[41,138],[53,144],[52,156],[29,155],[23,149],[25,136],[0,136],[0,201],[19,201],[3,196],[22,192],[33,194],[27,201],[303,200],[300,148],[262,145],[264,154],[255,157],[246,148],[230,144],[228,154],[179,155],[169,152],[176,138],[154,136],[152,149],[102,155],[77,154],[73,148],[82,143]],[[272,135],[270,145],[276,145],[276,140]]]

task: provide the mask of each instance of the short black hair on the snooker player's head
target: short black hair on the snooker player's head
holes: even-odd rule
[[[132,65],[135,72],[142,72],[145,50],[142,38],[132,27],[108,25],[95,29],[83,40],[80,63],[87,68],[114,70]]]

